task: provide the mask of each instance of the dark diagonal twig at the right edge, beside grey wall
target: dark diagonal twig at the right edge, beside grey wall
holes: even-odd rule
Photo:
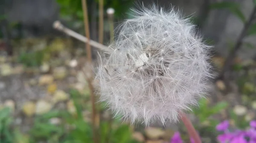
[[[249,20],[244,24],[244,28],[237,39],[236,45],[234,46],[233,50],[230,52],[229,56],[227,57],[227,60],[223,67],[223,70],[222,70],[221,74],[218,76],[217,80],[223,79],[224,81],[226,81],[229,78],[228,72],[230,70],[230,67],[233,64],[233,59],[236,57],[238,50],[241,48],[243,39],[246,36],[247,31],[250,28],[250,25],[252,24],[252,22],[254,20],[255,14],[256,14],[256,6],[254,6],[254,8],[253,8],[253,12],[251,13]]]

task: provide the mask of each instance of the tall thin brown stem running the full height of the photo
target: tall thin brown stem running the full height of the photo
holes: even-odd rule
[[[88,14],[87,14],[87,1],[81,0],[83,12],[84,12],[84,29],[85,29],[85,35],[87,36],[88,41],[90,41],[90,29],[89,29],[89,20],[88,20]],[[86,43],[86,53],[87,53],[87,62],[89,65],[92,64],[92,54],[91,54],[91,47],[90,43]],[[92,69],[88,70],[89,74],[92,73]],[[91,74],[92,75],[92,74]],[[98,143],[98,134],[96,129],[96,105],[95,105],[95,96],[94,96],[94,90],[92,85],[92,78],[88,77],[88,85],[90,89],[90,96],[91,96],[91,104],[92,104],[92,122],[93,122],[93,141],[94,143]]]

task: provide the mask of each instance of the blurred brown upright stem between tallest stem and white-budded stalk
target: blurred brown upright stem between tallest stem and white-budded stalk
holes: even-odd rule
[[[104,0],[99,0],[99,43],[103,43],[103,3]]]

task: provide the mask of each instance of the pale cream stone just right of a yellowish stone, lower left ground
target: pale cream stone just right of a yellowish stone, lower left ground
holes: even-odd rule
[[[36,103],[35,114],[41,115],[49,112],[51,109],[52,109],[52,104],[44,100],[39,100]]]

